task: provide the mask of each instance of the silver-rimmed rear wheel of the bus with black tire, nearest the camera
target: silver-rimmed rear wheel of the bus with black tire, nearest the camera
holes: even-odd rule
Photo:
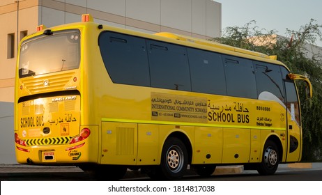
[[[187,170],[187,148],[185,144],[176,137],[170,137],[165,141],[162,156],[160,171],[164,178],[169,180],[182,178]]]

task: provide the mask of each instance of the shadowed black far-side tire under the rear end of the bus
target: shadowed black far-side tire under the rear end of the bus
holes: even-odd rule
[[[93,180],[120,180],[128,171],[126,166],[120,165],[92,165],[79,168]]]

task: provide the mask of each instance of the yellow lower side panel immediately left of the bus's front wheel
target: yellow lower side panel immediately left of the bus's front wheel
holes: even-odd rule
[[[224,128],[222,163],[244,163],[250,159],[250,129]]]

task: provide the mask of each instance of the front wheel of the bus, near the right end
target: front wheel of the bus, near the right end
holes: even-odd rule
[[[272,175],[277,170],[279,163],[279,151],[273,141],[268,140],[263,150],[263,159],[257,171],[261,175]]]

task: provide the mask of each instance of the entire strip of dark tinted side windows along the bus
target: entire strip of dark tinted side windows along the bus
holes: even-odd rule
[[[278,65],[109,31],[99,45],[114,83],[253,99],[268,91],[285,100],[289,71]]]

